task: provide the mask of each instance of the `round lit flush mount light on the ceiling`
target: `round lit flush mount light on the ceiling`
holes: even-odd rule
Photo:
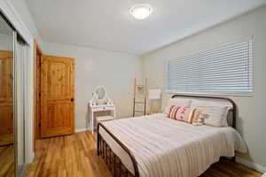
[[[153,12],[153,8],[148,4],[136,4],[129,8],[129,12],[136,19],[146,19]]]

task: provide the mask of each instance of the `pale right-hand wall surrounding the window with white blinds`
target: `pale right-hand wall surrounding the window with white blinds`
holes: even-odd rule
[[[150,87],[165,90],[165,61],[181,58],[198,50],[208,49],[224,42],[231,42],[254,35],[254,96],[233,96],[239,105],[238,130],[249,148],[248,155],[239,155],[239,161],[266,170],[265,139],[265,65],[266,65],[266,6],[249,12],[237,19],[207,29],[197,35],[155,50],[143,56],[144,77]],[[163,94],[163,103],[169,97]],[[248,161],[247,161],[248,160]],[[254,164],[253,164],[254,162]]]

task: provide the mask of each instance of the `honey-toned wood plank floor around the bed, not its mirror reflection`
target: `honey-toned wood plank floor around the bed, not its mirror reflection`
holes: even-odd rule
[[[219,162],[200,177],[259,177],[261,173],[244,165]],[[102,158],[97,156],[95,138],[89,132],[38,140],[35,160],[25,176],[110,177]]]

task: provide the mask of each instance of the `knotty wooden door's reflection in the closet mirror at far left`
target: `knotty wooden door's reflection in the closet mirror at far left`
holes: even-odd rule
[[[0,50],[0,146],[13,143],[13,52]]]

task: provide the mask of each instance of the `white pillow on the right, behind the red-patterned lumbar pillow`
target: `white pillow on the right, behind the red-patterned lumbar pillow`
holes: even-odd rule
[[[214,101],[192,100],[192,107],[199,108],[204,114],[204,123],[214,127],[228,127],[227,114],[230,105],[220,104]]]

